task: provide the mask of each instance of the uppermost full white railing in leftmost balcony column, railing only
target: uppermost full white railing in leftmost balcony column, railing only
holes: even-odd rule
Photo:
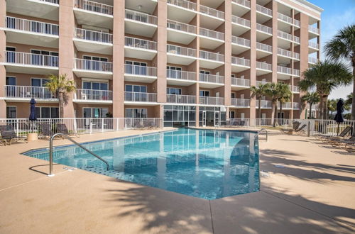
[[[5,16],[6,28],[45,35],[59,35],[58,24],[29,21],[23,18]]]

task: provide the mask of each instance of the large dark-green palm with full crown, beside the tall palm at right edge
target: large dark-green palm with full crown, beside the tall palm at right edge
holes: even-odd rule
[[[320,118],[327,119],[327,100],[330,92],[342,85],[349,85],[352,74],[342,62],[324,60],[302,73],[304,79],[298,84],[302,91],[315,89],[320,95]]]

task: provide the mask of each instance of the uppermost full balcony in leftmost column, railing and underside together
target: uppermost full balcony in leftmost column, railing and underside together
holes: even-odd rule
[[[9,43],[58,48],[59,26],[57,24],[5,16],[4,30]]]

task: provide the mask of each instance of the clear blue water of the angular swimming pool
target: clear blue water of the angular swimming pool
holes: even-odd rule
[[[246,194],[259,189],[256,133],[226,130],[179,130],[118,138],[84,146],[109,162],[77,146],[56,147],[54,162],[106,174],[202,199]],[[24,155],[48,160],[48,150]]]

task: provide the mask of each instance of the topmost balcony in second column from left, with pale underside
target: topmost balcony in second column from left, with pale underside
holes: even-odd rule
[[[75,0],[74,14],[77,24],[99,28],[113,27],[114,7],[96,1]]]

